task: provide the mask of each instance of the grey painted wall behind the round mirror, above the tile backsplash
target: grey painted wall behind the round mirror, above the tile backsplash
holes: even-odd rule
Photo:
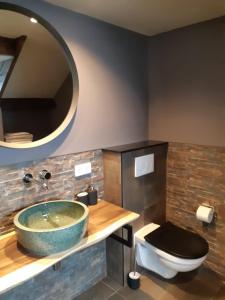
[[[40,14],[67,42],[80,95],[76,117],[48,145],[0,149],[0,165],[98,149],[147,138],[146,38],[42,1],[6,0]]]

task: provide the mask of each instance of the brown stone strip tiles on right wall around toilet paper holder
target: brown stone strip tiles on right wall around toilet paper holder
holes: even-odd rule
[[[202,203],[213,205],[217,213],[208,226],[195,217]],[[169,144],[167,219],[208,241],[206,264],[225,279],[225,147]]]

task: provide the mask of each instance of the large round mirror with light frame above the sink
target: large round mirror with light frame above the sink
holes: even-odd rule
[[[60,35],[31,11],[0,3],[0,146],[57,137],[76,111],[78,76]]]

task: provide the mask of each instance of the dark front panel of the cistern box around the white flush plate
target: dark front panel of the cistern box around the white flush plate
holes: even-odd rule
[[[135,157],[151,153],[154,154],[154,172],[135,178]],[[166,155],[167,144],[122,154],[123,207],[141,214],[143,225],[165,221]]]

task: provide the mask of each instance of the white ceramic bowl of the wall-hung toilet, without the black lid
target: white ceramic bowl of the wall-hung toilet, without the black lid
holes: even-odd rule
[[[136,261],[139,266],[169,279],[178,272],[198,268],[206,259],[207,254],[194,259],[177,257],[151,245],[144,237],[159,227],[158,224],[150,223],[135,233]]]

